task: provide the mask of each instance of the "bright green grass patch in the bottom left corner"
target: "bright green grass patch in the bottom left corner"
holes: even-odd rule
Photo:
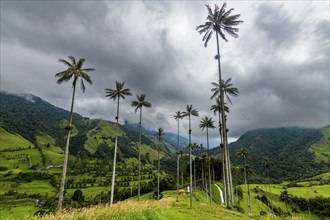
[[[15,200],[10,204],[1,203],[0,219],[31,219],[33,213],[39,208],[35,206],[33,200]]]

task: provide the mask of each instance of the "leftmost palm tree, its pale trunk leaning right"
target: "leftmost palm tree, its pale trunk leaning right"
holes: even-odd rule
[[[85,92],[84,81],[92,84],[92,80],[91,80],[90,76],[88,75],[88,72],[95,71],[95,69],[93,69],[93,68],[83,68],[83,64],[85,62],[84,58],[80,58],[78,60],[78,62],[76,62],[76,59],[73,56],[69,56],[68,58],[71,62],[64,60],[64,59],[58,60],[59,62],[63,63],[67,67],[67,69],[55,74],[55,77],[58,78],[58,80],[57,80],[58,84],[61,84],[62,82],[67,82],[71,78],[73,78],[73,82],[72,82],[73,92],[72,92],[72,101],[71,101],[71,110],[70,110],[70,121],[69,121],[69,125],[66,126],[68,135],[67,135],[65,151],[64,151],[63,171],[62,171],[60,192],[59,192],[59,197],[58,197],[58,206],[57,206],[58,211],[61,211],[61,209],[62,209],[66,170],[67,170],[67,166],[68,166],[70,136],[71,136],[71,131],[73,129],[72,115],[73,115],[73,105],[74,105],[74,97],[75,97],[75,93],[76,93],[77,81],[80,79],[81,89],[83,92]]]

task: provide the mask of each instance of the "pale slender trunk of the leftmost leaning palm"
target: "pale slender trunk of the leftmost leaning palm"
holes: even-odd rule
[[[65,151],[64,151],[64,162],[63,162],[62,178],[61,178],[61,184],[60,184],[60,192],[59,192],[59,196],[58,196],[57,211],[61,211],[62,203],[63,203],[65,178],[66,178],[66,171],[67,171],[67,167],[68,167],[70,136],[71,136],[71,130],[73,129],[72,115],[73,115],[74,97],[75,97],[75,93],[76,93],[76,81],[77,81],[77,79],[74,79],[72,102],[71,102],[71,109],[70,109],[70,121],[69,121],[68,136],[66,139],[66,145],[65,145]]]

